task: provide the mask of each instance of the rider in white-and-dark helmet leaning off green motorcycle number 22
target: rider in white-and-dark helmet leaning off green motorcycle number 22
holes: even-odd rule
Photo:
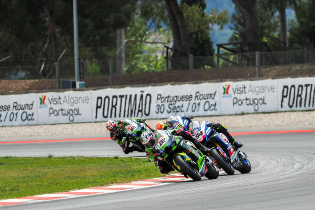
[[[157,151],[154,147],[154,144],[156,142],[155,133],[158,131],[155,131],[154,133],[151,131],[145,131],[140,136],[141,143],[146,147],[146,156],[149,160],[155,163],[155,165],[159,168],[159,171],[161,173],[169,173],[171,170],[174,170],[173,167],[171,167],[166,161],[157,159]],[[186,130],[183,129],[177,129],[177,130],[169,130],[169,132],[172,135],[176,136],[182,136],[184,139],[191,141],[203,154],[206,154],[210,156],[210,149],[200,144],[199,141],[197,141],[195,138],[192,137],[192,134],[189,133]],[[182,148],[186,150],[186,148]],[[190,149],[186,150],[185,152],[190,153]]]

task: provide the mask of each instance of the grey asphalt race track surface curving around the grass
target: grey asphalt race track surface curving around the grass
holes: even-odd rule
[[[304,130],[303,127],[293,129]],[[309,128],[307,129],[309,130]],[[275,129],[269,130],[274,131]],[[255,130],[250,129],[250,132],[252,131]],[[231,130],[231,132],[237,131]],[[106,136],[104,137],[106,138]],[[236,172],[233,176],[222,174],[215,180],[203,178],[199,182],[183,181],[144,189],[0,208],[47,210],[223,209],[226,207],[233,209],[314,209],[315,132],[272,132],[238,135],[236,138],[244,143],[242,151],[249,156],[252,164],[249,174]],[[24,141],[26,140],[24,139]],[[5,140],[1,139],[1,141]],[[6,141],[8,140],[6,139]],[[10,139],[10,141],[14,142],[14,139]],[[48,154],[54,156],[125,156],[121,148],[112,140],[0,143],[0,156],[47,156]],[[127,156],[138,155],[142,156],[141,153],[135,152]]]

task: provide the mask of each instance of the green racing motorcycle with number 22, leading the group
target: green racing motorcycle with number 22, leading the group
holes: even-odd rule
[[[159,160],[165,160],[186,178],[189,176],[195,181],[200,181],[202,176],[208,179],[218,178],[219,169],[211,158],[204,156],[192,144],[189,145],[189,141],[172,135],[169,130],[157,130],[154,134],[157,139],[154,146]]]

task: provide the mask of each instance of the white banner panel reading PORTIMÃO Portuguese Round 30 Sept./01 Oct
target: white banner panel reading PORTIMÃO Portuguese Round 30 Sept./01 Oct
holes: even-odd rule
[[[218,94],[217,83],[92,91],[93,121],[218,115]]]

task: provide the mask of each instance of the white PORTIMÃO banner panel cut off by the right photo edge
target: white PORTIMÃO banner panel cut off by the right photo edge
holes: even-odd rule
[[[315,77],[279,79],[278,110],[310,110],[315,108]]]

